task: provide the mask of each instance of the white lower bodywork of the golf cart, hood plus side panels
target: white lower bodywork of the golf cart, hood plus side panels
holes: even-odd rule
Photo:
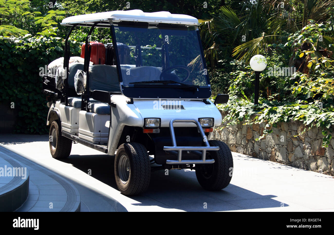
[[[61,118],[63,131],[78,135],[80,139],[95,144],[108,143],[108,154],[114,155],[118,147],[124,126],[144,126],[144,118],[161,118],[161,127],[169,127],[170,120],[174,118],[213,118],[214,126],[221,124],[222,118],[219,110],[211,102],[205,104],[202,100],[148,100],[134,99],[134,104],[128,104],[129,99],[123,95],[112,95],[111,101],[116,104],[112,107],[110,116],[92,112],[80,111],[79,108],[65,106],[57,101],[50,106]],[[162,105],[174,105],[184,109],[164,109]],[[76,124],[75,124],[76,123]],[[47,123],[49,125],[50,123]],[[109,128],[110,126],[110,128]],[[196,126],[194,123],[174,123],[175,127]],[[109,133],[109,140],[108,140]],[[211,139],[212,132],[208,139]]]

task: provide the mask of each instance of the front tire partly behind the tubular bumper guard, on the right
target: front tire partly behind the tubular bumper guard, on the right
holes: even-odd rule
[[[195,165],[198,183],[206,190],[221,190],[232,179],[233,158],[227,144],[219,140],[209,140],[210,146],[218,146],[218,151],[207,151],[207,159],[214,159],[213,164]]]

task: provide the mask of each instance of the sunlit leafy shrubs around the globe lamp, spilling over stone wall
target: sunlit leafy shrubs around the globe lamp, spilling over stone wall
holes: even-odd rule
[[[227,104],[219,105],[226,116],[227,125],[245,121],[246,124],[267,123],[266,134],[280,122],[300,121],[305,125],[301,133],[313,126],[323,131],[323,147],[327,147],[334,125],[334,59],[333,27],[328,23],[310,24],[291,33],[283,44],[269,44],[266,56],[267,69],[261,73],[259,105],[254,105],[254,71],[244,62],[238,62],[230,75]],[[321,38],[321,39],[320,39]],[[307,45],[309,49],[303,49]],[[292,49],[292,50],[290,50]],[[290,58],[290,60],[289,60]],[[288,64],[305,63],[303,71],[290,77],[273,75],[274,67],[290,67]],[[233,64],[233,62],[231,63]],[[303,65],[303,64],[302,64]],[[299,69],[299,68],[297,68]]]

